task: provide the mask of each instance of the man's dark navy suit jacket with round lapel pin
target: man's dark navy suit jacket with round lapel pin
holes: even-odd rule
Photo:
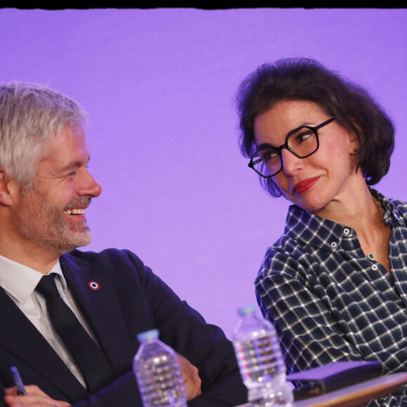
[[[11,366],[26,385],[37,385],[75,407],[142,407],[132,363],[136,335],[158,328],[160,339],[199,369],[201,396],[190,407],[235,406],[247,393],[233,348],[220,328],[181,301],[129,251],[73,251],[60,259],[76,303],[111,363],[116,380],[94,394],[76,380],[44,337],[0,288],[0,406],[4,387],[13,386]],[[88,283],[99,283],[92,290]]]

